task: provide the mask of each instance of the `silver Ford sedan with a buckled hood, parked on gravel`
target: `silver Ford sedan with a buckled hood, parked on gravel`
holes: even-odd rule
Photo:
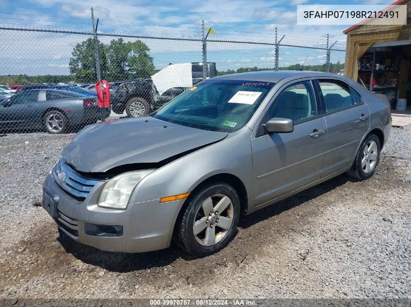
[[[253,72],[203,81],[150,116],[81,130],[44,182],[71,239],[114,252],[201,257],[240,215],[347,172],[370,178],[391,128],[386,97],[343,76]]]

